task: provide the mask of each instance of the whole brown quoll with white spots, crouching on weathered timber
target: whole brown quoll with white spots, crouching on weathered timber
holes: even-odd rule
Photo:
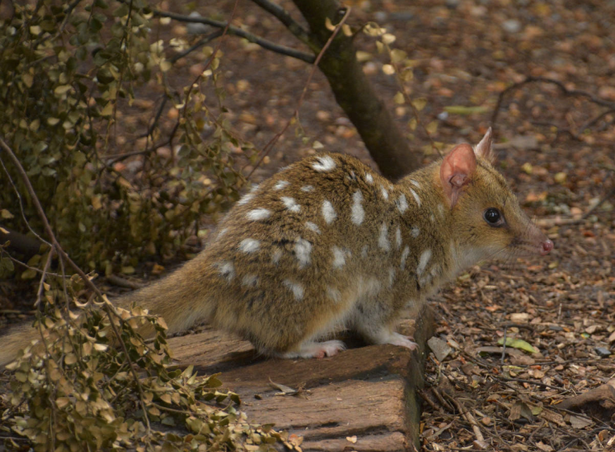
[[[481,259],[553,248],[493,168],[491,141],[395,184],[343,154],[298,161],[242,197],[192,261],[117,303],[170,332],[206,320],[283,358],[335,355],[344,343],[323,339],[340,327],[415,348],[395,332],[404,307]]]

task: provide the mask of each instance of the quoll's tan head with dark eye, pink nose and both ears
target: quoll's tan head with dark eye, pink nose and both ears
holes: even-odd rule
[[[475,148],[457,145],[440,164],[456,243],[473,260],[547,255],[553,242],[523,212],[494,163],[490,128]]]

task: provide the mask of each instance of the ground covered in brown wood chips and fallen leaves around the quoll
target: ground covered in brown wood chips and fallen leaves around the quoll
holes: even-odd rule
[[[434,140],[449,149],[456,142],[476,143],[494,127],[499,169],[555,243],[547,257],[473,267],[430,300],[436,336],[448,348],[427,360],[423,450],[615,450],[615,3],[350,3],[352,25],[378,22],[414,60],[414,80],[406,88],[411,97],[426,99],[420,117],[425,124],[437,121]],[[226,20],[234,1],[194,4],[203,16]],[[297,47],[275,18],[250,1],[239,4],[237,23]],[[282,5],[299,17],[289,1]],[[185,32],[183,25],[173,26],[173,32]],[[356,45],[376,53],[364,35]],[[220,49],[225,118],[262,149],[292,117],[310,67],[237,37],[225,37]],[[375,56],[364,63],[365,71],[399,127],[413,134],[411,148],[423,152],[429,140],[409,129],[412,112],[394,103],[399,87],[383,74],[383,63],[383,56]],[[189,56],[178,64],[183,73],[171,82],[180,88],[204,61]],[[527,77],[556,80],[587,95],[564,92],[556,83],[519,85],[502,97],[492,123],[500,94]],[[142,106],[140,116],[126,123],[149,121],[152,106]],[[449,106],[464,108],[447,112]],[[301,135],[374,166],[318,71],[299,118],[302,133],[291,126],[252,182],[315,152]],[[172,123],[172,112],[162,121],[163,127]],[[436,158],[423,155],[425,163]],[[504,338],[522,341],[504,350]],[[588,395],[575,398],[581,393]]]

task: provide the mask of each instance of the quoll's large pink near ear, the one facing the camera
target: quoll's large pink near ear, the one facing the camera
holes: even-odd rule
[[[450,207],[453,207],[464,185],[476,171],[476,155],[470,145],[456,145],[440,165],[440,181]]]

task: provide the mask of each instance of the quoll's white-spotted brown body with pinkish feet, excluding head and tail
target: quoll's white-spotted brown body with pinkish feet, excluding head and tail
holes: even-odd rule
[[[300,161],[262,183],[238,202],[206,252],[216,260],[220,296],[232,293],[220,323],[232,319],[250,331],[259,322],[269,331],[252,340],[270,354],[335,353],[339,342],[315,351],[311,340],[347,324],[371,341],[395,336],[412,346],[380,324],[394,322],[421,285],[442,275],[430,262],[441,250],[421,241],[419,217],[430,214],[414,183],[402,190],[342,154]],[[309,346],[292,350],[305,338]]]

